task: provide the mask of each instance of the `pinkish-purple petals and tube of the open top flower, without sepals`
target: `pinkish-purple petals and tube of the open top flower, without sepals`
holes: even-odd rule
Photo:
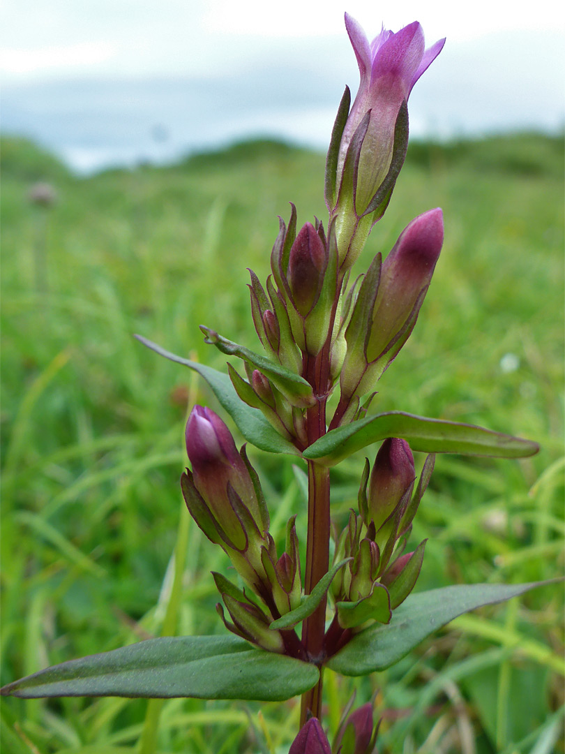
[[[420,23],[395,34],[382,29],[369,43],[359,23],[345,14],[345,26],[359,65],[361,81],[351,108],[337,162],[337,187],[341,182],[347,148],[359,124],[371,111],[359,158],[356,210],[362,213],[389,170],[396,118],[412,87],[444,46],[444,39],[425,50]]]

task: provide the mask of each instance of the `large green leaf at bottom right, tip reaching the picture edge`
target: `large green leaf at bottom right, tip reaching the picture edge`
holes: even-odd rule
[[[493,605],[553,581],[531,584],[460,584],[411,594],[392,613],[388,626],[366,628],[331,657],[328,667],[344,676],[366,676],[394,665],[426,636],[458,615]]]

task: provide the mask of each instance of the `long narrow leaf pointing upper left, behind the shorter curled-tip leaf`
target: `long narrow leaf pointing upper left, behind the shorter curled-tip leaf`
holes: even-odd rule
[[[288,440],[285,440],[284,437],[281,437],[258,409],[253,409],[240,400],[228,375],[218,372],[218,369],[212,369],[211,366],[183,359],[182,356],[177,356],[170,351],[166,351],[160,345],[151,342],[143,336],[136,335],[135,337],[140,343],[146,345],[147,348],[151,348],[151,351],[155,351],[156,354],[170,361],[175,361],[178,364],[184,364],[189,369],[194,369],[195,372],[198,372],[206,380],[212,393],[218,398],[225,411],[234,419],[237,428],[249,443],[269,453],[300,455],[298,449],[292,443],[289,443]]]

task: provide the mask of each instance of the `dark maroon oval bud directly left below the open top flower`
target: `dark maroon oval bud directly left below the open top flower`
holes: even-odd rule
[[[297,311],[306,317],[316,303],[328,257],[316,228],[311,222],[298,232],[290,250],[286,277]]]

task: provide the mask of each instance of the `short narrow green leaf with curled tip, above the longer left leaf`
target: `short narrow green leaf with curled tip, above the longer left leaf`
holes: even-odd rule
[[[291,372],[290,369],[286,369],[286,367],[274,361],[270,361],[266,357],[261,356],[261,354],[255,354],[243,345],[238,345],[231,340],[222,338],[221,335],[218,335],[215,330],[209,329],[209,327],[200,325],[200,329],[204,333],[205,342],[215,345],[222,354],[237,356],[243,359],[243,361],[257,367],[293,406],[307,408],[316,403],[312,388],[304,377]]]

